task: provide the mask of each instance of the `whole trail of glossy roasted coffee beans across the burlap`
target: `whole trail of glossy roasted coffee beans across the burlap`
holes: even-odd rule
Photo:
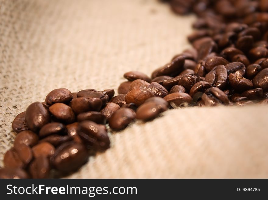
[[[110,147],[107,128],[149,121],[169,108],[268,103],[268,0],[170,0],[174,12],[198,16],[191,49],[151,77],[124,74],[114,89],[55,89],[12,123],[14,146],[0,178],[48,178],[76,171]],[[179,26],[179,24],[178,24]]]

